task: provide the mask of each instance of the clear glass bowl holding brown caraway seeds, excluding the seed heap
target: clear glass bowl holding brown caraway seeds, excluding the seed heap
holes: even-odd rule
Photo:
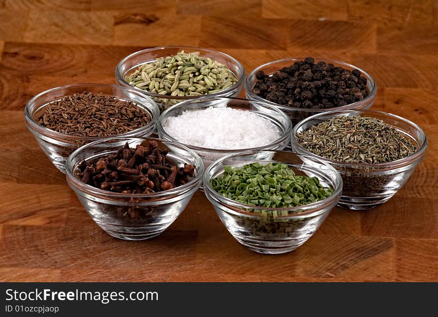
[[[39,93],[30,99],[24,108],[24,117],[26,119],[27,128],[30,132],[32,132],[36,142],[43,150],[44,154],[63,173],[65,173],[65,161],[70,154],[72,154],[79,147],[93,141],[101,140],[103,137],[80,137],[62,134],[38,124],[37,117],[44,110],[44,107],[46,107],[50,102],[73,95],[74,93],[82,93],[84,91],[93,93],[102,92],[105,95],[114,96],[127,101],[133,101],[147,111],[147,113],[150,115],[151,121],[144,127],[119,134],[117,136],[149,136],[155,131],[157,120],[160,115],[158,106],[152,99],[132,89],[115,85],[94,83],[73,84],[52,88]]]

